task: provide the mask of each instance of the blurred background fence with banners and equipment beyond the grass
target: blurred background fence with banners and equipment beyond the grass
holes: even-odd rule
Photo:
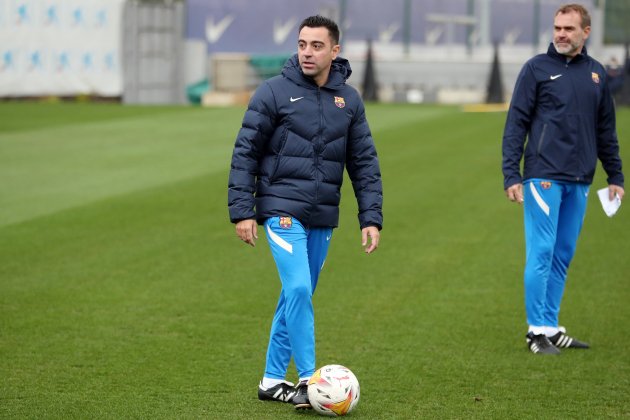
[[[339,22],[359,90],[371,45],[381,101],[483,102],[493,83],[508,100],[523,63],[546,50],[563,3],[0,0],[0,97],[244,102],[295,51],[300,21],[319,13]],[[593,18],[589,53],[623,76],[630,1],[581,3]]]

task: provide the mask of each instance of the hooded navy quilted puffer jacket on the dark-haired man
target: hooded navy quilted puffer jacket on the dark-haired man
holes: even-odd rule
[[[374,141],[347,60],[328,82],[304,76],[297,54],[252,97],[236,138],[228,181],[230,220],[292,216],[307,227],[337,227],[344,167],[361,228],[383,225]]]

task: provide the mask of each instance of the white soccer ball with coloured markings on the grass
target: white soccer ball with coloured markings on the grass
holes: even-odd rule
[[[308,400],[324,416],[343,416],[359,402],[359,381],[341,365],[326,365],[315,371],[308,381]]]

